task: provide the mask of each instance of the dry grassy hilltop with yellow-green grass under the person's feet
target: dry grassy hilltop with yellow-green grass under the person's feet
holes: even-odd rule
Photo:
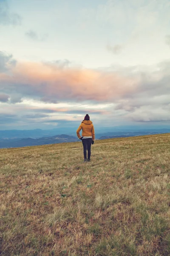
[[[170,134],[0,149],[0,253],[170,255]]]

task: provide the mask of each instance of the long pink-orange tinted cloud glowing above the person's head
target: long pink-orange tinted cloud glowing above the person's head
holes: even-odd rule
[[[17,63],[11,74],[0,75],[8,92],[44,101],[113,101],[134,93],[137,79],[112,72],[60,68],[56,64]]]

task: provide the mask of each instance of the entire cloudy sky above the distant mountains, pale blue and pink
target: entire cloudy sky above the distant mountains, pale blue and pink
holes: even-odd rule
[[[170,127],[170,0],[0,0],[0,130]]]

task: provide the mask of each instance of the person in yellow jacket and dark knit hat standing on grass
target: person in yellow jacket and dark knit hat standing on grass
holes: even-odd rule
[[[82,137],[79,132],[82,130]],[[91,144],[94,144],[95,134],[94,126],[90,120],[88,114],[85,115],[84,120],[81,122],[81,125],[77,129],[77,137],[79,140],[82,140],[83,152],[84,152],[84,162],[89,162],[91,157]],[[87,159],[87,150],[88,150],[88,159]]]

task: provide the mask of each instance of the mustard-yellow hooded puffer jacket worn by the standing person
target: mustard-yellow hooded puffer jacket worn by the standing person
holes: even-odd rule
[[[81,138],[79,132],[82,130],[82,137],[84,136],[92,136],[92,140],[95,139],[94,135],[94,126],[90,120],[83,120],[79,128],[77,129],[77,136]]]

